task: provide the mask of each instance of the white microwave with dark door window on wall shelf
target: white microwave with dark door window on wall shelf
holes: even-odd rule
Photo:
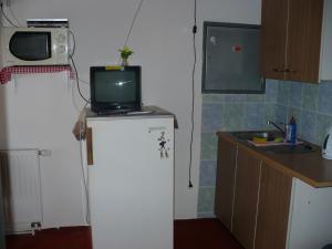
[[[2,66],[69,64],[66,28],[1,28]]]

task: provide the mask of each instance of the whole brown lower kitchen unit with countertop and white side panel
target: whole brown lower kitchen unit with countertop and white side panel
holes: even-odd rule
[[[231,133],[217,135],[216,216],[246,249],[332,242],[332,162],[319,151],[269,155]]]

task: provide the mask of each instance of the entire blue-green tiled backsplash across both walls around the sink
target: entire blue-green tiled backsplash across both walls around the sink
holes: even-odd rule
[[[273,128],[267,120],[287,123],[294,116],[299,136],[321,144],[332,125],[332,82],[267,80],[266,94],[205,94],[201,115],[198,217],[209,217],[215,203],[216,131]]]

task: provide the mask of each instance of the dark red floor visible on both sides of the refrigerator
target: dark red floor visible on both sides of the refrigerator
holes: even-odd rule
[[[242,249],[216,219],[177,220],[174,237],[174,249]],[[9,236],[7,243],[7,249],[92,249],[89,227]]]

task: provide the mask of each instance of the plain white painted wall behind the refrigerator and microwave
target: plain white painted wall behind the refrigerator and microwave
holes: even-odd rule
[[[203,21],[259,23],[261,0],[198,0],[193,184],[187,187],[190,137],[194,0],[145,0],[128,45],[131,64],[143,69],[143,102],[175,113],[175,214],[196,217],[200,153],[200,71]],[[82,79],[90,65],[118,62],[127,29],[139,0],[11,0],[19,20],[69,18],[76,38],[75,60]],[[18,93],[6,86],[7,138],[12,146],[51,148],[44,169],[45,219],[50,224],[82,222],[79,145],[71,136],[76,113],[64,75],[21,76]],[[87,95],[89,89],[82,85]],[[82,105],[82,103],[81,103]],[[40,112],[38,112],[40,111]],[[51,115],[54,114],[54,115]],[[51,134],[52,135],[51,135]],[[46,138],[46,139],[45,139]],[[80,220],[81,219],[81,220]]]

